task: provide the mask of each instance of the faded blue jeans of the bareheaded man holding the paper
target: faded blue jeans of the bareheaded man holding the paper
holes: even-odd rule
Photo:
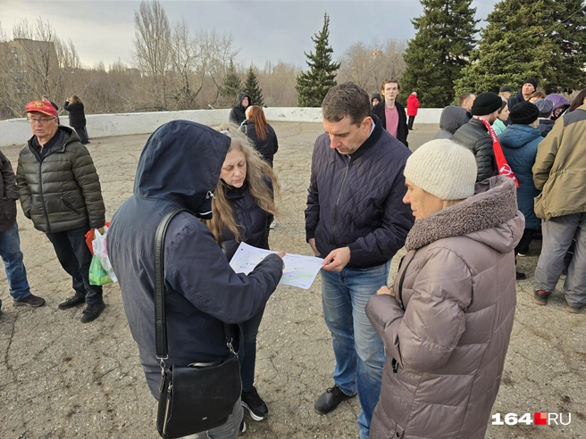
[[[387,285],[389,268],[390,261],[371,269],[322,270],[323,317],[336,357],[334,383],[347,395],[358,393],[361,439],[369,436],[385,362],[384,345],[364,307],[381,286]]]

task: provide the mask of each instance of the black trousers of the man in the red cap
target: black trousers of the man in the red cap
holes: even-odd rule
[[[78,297],[85,297],[88,305],[102,302],[102,287],[89,284],[89,264],[92,254],[86,244],[89,226],[64,232],[47,233],[61,266],[73,279],[73,289]]]

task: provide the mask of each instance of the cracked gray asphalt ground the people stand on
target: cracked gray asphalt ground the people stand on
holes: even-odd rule
[[[275,122],[280,150],[280,215],[271,234],[273,250],[311,254],[305,242],[306,188],[319,123]],[[414,149],[430,140],[436,125],[417,125],[409,136]],[[91,136],[91,133],[89,133]],[[130,195],[147,135],[93,138],[89,146],[100,176],[106,218]],[[16,162],[21,145],[4,147]],[[57,303],[72,294],[46,236],[32,227],[19,207],[21,250],[33,294],[46,299],[38,309],[13,307],[4,271],[0,273],[0,437],[152,438],[155,400],[147,390],[121,304],[117,284],[105,286],[104,314],[81,324],[82,308],[61,311]],[[139,225],[138,225],[139,227]],[[492,413],[546,411],[571,414],[568,426],[490,426],[487,437],[586,437],[586,312],[564,311],[561,283],[546,307],[532,303],[533,272],[540,242],[533,242],[518,269],[515,327],[505,375]],[[398,256],[403,252],[398,253]],[[391,277],[397,272],[397,261]],[[562,277],[561,281],[564,280]],[[264,313],[258,336],[255,385],[270,410],[263,422],[247,414],[254,438],[356,438],[360,407],[356,398],[320,416],[315,399],[332,385],[334,358],[322,317],[320,279],[309,290],[279,286]]]

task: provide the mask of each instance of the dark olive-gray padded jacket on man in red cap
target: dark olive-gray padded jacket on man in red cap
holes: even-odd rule
[[[58,143],[42,161],[33,137],[21,149],[16,182],[24,215],[45,233],[104,227],[102,189],[88,148],[69,127],[59,126],[55,136]]]

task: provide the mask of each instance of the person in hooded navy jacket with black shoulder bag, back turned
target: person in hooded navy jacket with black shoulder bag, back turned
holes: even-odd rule
[[[190,211],[172,219],[163,244],[167,367],[226,358],[223,323],[257,315],[282,276],[284,253],[267,256],[248,276],[236,274],[200,221],[212,215],[213,190],[229,148],[230,137],[196,122],[173,120],[157,128],[138,160],[133,195],[114,213],[108,230],[108,254],[155,398],[161,369],[155,356],[153,246],[166,213]],[[226,424],[206,437],[236,438],[242,418],[239,400]]]

